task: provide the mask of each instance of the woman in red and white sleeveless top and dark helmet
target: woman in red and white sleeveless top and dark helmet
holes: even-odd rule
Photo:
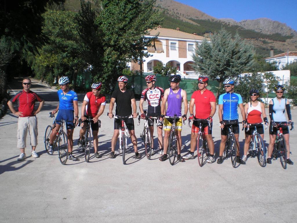
[[[264,122],[268,124],[268,119],[265,113],[265,105],[264,103],[258,101],[259,98],[259,90],[251,89],[249,91],[251,96],[251,100],[249,103],[246,103],[244,106],[244,111],[247,115],[247,123],[255,124],[263,122],[261,115],[263,116]],[[262,139],[264,139],[264,128],[263,124],[257,125],[257,132],[260,134]],[[251,142],[253,132],[255,128],[249,128],[249,131],[245,131],[245,143],[244,143],[244,155],[242,157],[243,161],[247,161],[247,151],[249,150],[249,142]],[[254,156],[254,155],[252,155]]]

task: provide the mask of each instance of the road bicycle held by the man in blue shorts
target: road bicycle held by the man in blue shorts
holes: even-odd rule
[[[61,127],[60,127],[59,132],[56,135],[56,139],[54,139],[53,149],[58,147],[59,160],[60,160],[61,164],[65,165],[66,161],[68,159],[68,138],[67,138],[67,134],[64,132],[64,125],[68,121],[65,121],[65,120],[55,120],[54,121],[55,115],[52,114],[51,112],[50,112],[49,117],[53,118],[53,125],[52,126],[48,125],[45,129],[45,134],[44,134],[45,149],[46,149],[47,153],[50,154],[48,152],[48,147],[50,145],[50,134],[51,134],[53,128],[56,127],[56,122],[60,122]]]

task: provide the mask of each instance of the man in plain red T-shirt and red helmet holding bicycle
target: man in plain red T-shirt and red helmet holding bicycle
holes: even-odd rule
[[[212,139],[212,117],[216,112],[216,97],[214,93],[208,90],[206,87],[208,85],[208,77],[200,76],[198,78],[198,91],[192,94],[189,111],[190,119],[194,118],[194,105],[195,105],[195,118],[196,119],[209,119],[210,127],[208,123],[203,123],[204,134],[206,136],[206,141],[209,147],[209,157],[207,159],[208,163],[214,162],[214,140]],[[194,151],[197,145],[197,136],[199,130],[199,123],[197,121],[193,122],[192,132],[191,132],[191,146],[190,153],[183,156],[184,159],[194,159]],[[199,154],[198,154],[199,156]]]

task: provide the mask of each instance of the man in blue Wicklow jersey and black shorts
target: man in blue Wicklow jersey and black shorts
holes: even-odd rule
[[[232,79],[227,78],[224,82],[224,88],[226,93],[219,96],[219,120],[220,120],[220,128],[221,128],[221,143],[220,143],[220,151],[219,158],[217,160],[218,164],[223,163],[223,152],[225,149],[225,144],[228,136],[228,126],[225,126],[225,123],[238,121],[238,112],[237,106],[239,105],[241,115],[242,115],[242,124],[246,127],[246,114],[244,111],[244,106],[242,103],[241,95],[234,93],[234,81]],[[237,148],[239,151],[239,124],[233,125],[233,133],[236,139]],[[241,160],[239,154],[237,154],[236,162],[240,164],[245,164],[244,161]]]

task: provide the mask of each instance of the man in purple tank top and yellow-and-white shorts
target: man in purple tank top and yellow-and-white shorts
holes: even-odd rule
[[[161,104],[161,117],[164,119],[164,140],[163,148],[164,154],[159,158],[160,161],[165,161],[167,159],[167,149],[168,141],[170,136],[170,130],[172,126],[172,119],[165,118],[165,104],[167,102],[166,116],[181,116],[181,103],[184,102],[184,115],[176,122],[176,141],[177,141],[177,159],[180,162],[184,162],[184,158],[181,157],[181,126],[182,119],[187,119],[188,113],[188,101],[187,93],[179,87],[179,82],[181,81],[180,75],[173,75],[169,78],[170,88],[166,89]]]

